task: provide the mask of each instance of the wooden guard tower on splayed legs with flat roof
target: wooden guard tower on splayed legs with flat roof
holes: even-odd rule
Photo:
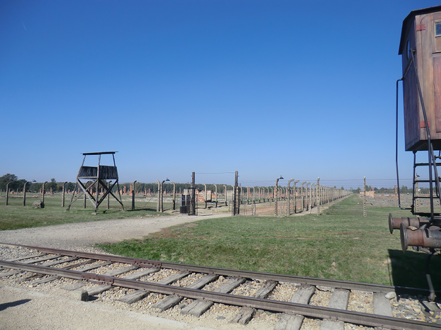
[[[74,193],[72,194],[72,198],[70,199],[69,206],[67,207],[67,210],[70,209],[70,205],[72,205],[77,199],[79,199],[82,195],[86,195],[87,198],[89,198],[90,202],[95,207],[95,212],[98,210],[99,205],[103,202],[103,200],[110,194],[118,200],[118,203],[121,204],[121,207],[124,210],[124,205],[121,202],[121,193],[119,190],[119,183],[118,183],[118,170],[116,169],[115,164],[115,153],[116,152],[89,152],[83,154],[83,163],[82,166],[80,166],[77,176],[77,182],[75,183],[74,191],[77,190],[77,187],[79,186],[82,191],[74,198]],[[113,166],[104,166],[101,165],[101,155],[102,154],[111,154],[113,158]],[[84,166],[84,161],[86,160],[87,156],[98,156],[98,166]],[[87,180],[85,183],[82,181]],[[103,180],[111,180],[113,183],[111,185],[107,185]],[[117,186],[118,188],[118,195],[119,199],[116,197],[116,195],[113,195],[112,188],[114,186]],[[93,189],[96,190],[96,197],[93,195]],[[104,191],[104,194],[101,198],[99,198],[99,188],[102,188]]]

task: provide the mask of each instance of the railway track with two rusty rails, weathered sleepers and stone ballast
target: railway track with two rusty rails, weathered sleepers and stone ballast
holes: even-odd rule
[[[157,300],[150,302],[152,309],[166,311],[179,305],[181,314],[194,317],[200,317],[215,304],[237,306],[240,311],[225,322],[242,325],[250,322],[257,311],[280,313],[274,326],[276,330],[302,329],[305,318],[321,320],[320,329],[323,330],[345,329],[345,324],[387,329],[441,329],[440,324],[393,317],[393,306],[386,295],[428,295],[428,291],[420,289],[193,266],[36,246],[21,248],[28,249],[28,255],[0,260],[0,278],[15,276],[16,280],[28,286],[51,283],[60,278],[69,279],[64,289],[72,290],[82,300],[93,299],[103,292],[119,288],[122,292],[118,295],[119,302],[133,304],[156,294]],[[277,297],[277,291],[281,288],[289,295]],[[372,297],[372,310],[348,310],[351,297],[360,294]],[[318,296],[320,300],[327,301],[326,306],[313,304]],[[425,309],[435,316],[436,307],[436,304],[428,304]]]

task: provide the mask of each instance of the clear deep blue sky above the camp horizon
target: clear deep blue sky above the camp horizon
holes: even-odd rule
[[[401,25],[439,4],[2,0],[0,176],[393,186]]]

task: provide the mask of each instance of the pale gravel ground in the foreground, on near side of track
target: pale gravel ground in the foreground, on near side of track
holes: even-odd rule
[[[211,327],[91,304],[62,295],[1,285],[0,329],[175,330]]]

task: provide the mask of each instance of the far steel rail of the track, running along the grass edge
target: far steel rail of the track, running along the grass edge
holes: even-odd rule
[[[77,256],[81,258],[89,258],[96,260],[104,260],[104,261],[112,261],[117,263],[129,263],[131,265],[137,265],[140,267],[157,267],[157,268],[171,268],[177,269],[179,271],[191,271],[195,273],[209,273],[223,276],[232,276],[232,277],[242,277],[242,278],[252,278],[259,280],[274,280],[278,282],[287,282],[287,283],[300,283],[300,284],[308,284],[308,285],[322,285],[328,286],[330,288],[337,289],[346,289],[346,290],[359,290],[359,291],[369,291],[369,292],[397,292],[397,293],[408,293],[411,295],[428,295],[429,290],[420,289],[420,288],[408,288],[401,286],[393,286],[393,285],[381,285],[381,284],[372,284],[372,283],[357,283],[350,282],[345,280],[332,280],[325,278],[311,278],[307,276],[297,276],[297,275],[284,275],[284,274],[274,274],[274,273],[262,273],[262,272],[253,272],[253,271],[240,271],[235,269],[228,268],[215,268],[208,266],[194,266],[185,263],[172,263],[167,261],[154,261],[140,258],[127,258],[124,256],[114,256],[110,254],[92,254],[89,252],[81,252],[81,251],[67,251],[61,249],[50,249],[43,248],[38,246],[26,246],[19,244],[7,244],[0,243],[6,245],[13,246],[23,246],[28,249],[38,250],[42,252],[46,252],[49,254],[63,254],[65,256]],[[437,291],[439,292],[439,291]]]

